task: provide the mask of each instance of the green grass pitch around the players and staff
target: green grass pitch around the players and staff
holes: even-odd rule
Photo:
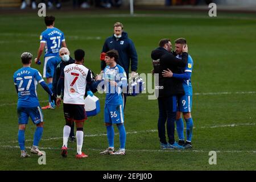
[[[60,155],[64,117],[62,106],[44,110],[45,127],[40,147],[46,151],[46,165],[38,164],[38,156],[20,159],[17,140],[16,92],[13,73],[22,65],[22,52],[39,47],[39,35],[45,30],[43,18],[36,13],[0,15],[1,69],[1,170],[254,170],[255,158],[255,37],[256,19],[250,14],[168,13],[143,11],[129,15],[97,13],[51,13],[55,26],[65,34],[71,56],[77,48],[85,49],[85,65],[100,72],[100,52],[105,38],[112,35],[113,24],[122,22],[137,48],[139,73],[150,73],[150,53],[162,38],[188,40],[194,61],[192,73],[193,148],[186,151],[161,151],[157,129],[158,105],[147,100],[147,94],[128,97],[125,110],[127,131],[126,156],[101,156],[108,146],[103,122],[104,95],[100,97],[101,113],[85,122],[83,150],[89,158],[76,160],[76,143],[69,143],[68,158]],[[138,12],[140,13],[140,12]],[[70,16],[69,16],[70,14]],[[235,18],[234,18],[235,16]],[[43,60],[43,57],[41,57]],[[42,65],[32,64],[43,73]],[[220,92],[218,94],[218,92]],[[230,92],[231,94],[221,94]],[[238,93],[236,93],[238,92]],[[244,93],[243,93],[244,92]],[[251,93],[249,93],[251,92]],[[40,101],[48,99],[38,87]],[[40,102],[41,106],[47,102]],[[234,124],[234,126],[230,126]],[[216,126],[216,127],[215,127]],[[35,126],[27,125],[26,147],[32,144]],[[137,131],[137,133],[135,133]],[[118,132],[115,127],[115,132]],[[96,136],[92,136],[96,134]],[[53,139],[50,139],[53,138]],[[176,137],[177,138],[177,137]],[[115,135],[115,148],[119,135]],[[217,151],[217,165],[209,165],[209,151]],[[27,151],[29,151],[27,149]],[[111,164],[111,165],[109,165]]]

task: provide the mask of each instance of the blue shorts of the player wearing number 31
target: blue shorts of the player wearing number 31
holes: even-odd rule
[[[57,66],[57,64],[59,63],[59,57],[55,57],[55,56],[49,56],[49,57],[45,57],[44,59],[44,64],[46,65],[46,71],[45,71],[45,76],[46,78],[52,78],[54,71],[55,71],[55,67]]]

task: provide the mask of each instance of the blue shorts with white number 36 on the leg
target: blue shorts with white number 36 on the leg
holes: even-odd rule
[[[105,104],[104,110],[105,123],[119,124],[124,122],[123,106]]]

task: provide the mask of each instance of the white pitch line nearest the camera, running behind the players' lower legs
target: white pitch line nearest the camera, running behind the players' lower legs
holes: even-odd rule
[[[241,123],[241,124],[230,124],[230,125],[216,125],[216,126],[202,126],[202,127],[193,127],[193,129],[213,129],[213,128],[217,128],[217,127],[235,127],[235,126],[254,126],[255,123]],[[184,128],[186,129],[186,128]],[[144,130],[144,131],[130,131],[127,132],[126,134],[139,134],[139,133],[156,133],[158,132],[158,130]],[[102,133],[102,134],[92,134],[92,135],[84,135],[84,137],[102,137],[102,136],[106,136],[106,133]],[[118,133],[115,133],[115,135],[118,135]],[[45,138],[45,139],[41,139],[42,141],[49,141],[49,140],[59,140],[59,139],[63,139],[63,137],[53,137],[53,138]],[[32,139],[27,139],[25,140],[25,142],[32,142]],[[17,140],[15,141],[11,141],[9,143],[18,143]],[[0,143],[0,144],[5,144],[5,143]]]

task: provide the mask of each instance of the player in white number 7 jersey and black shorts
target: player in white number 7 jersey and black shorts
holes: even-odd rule
[[[61,72],[57,83],[57,106],[60,106],[61,90],[64,90],[63,110],[66,124],[63,129],[63,146],[61,155],[67,157],[68,137],[73,122],[76,123],[76,158],[87,158],[88,155],[82,152],[82,143],[84,141],[84,121],[87,119],[84,109],[84,95],[86,88],[87,94],[93,96],[89,90],[92,82],[92,74],[84,65],[85,52],[82,49],[75,51],[75,63],[66,65]],[[64,89],[63,89],[64,88]]]

